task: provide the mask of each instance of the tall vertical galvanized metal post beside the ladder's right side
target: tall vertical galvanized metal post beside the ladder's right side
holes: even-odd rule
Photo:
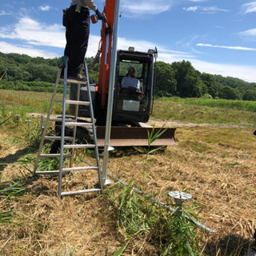
[[[106,170],[107,162],[110,150],[110,131],[111,131],[111,121],[112,121],[112,110],[113,110],[113,98],[114,98],[114,78],[115,78],[115,66],[117,62],[117,47],[118,47],[118,19],[119,19],[119,6],[120,0],[116,0],[115,10],[114,10],[114,26],[113,26],[113,45],[111,53],[111,65],[110,65],[110,86],[109,95],[107,103],[106,112],[106,132],[105,132],[105,144],[104,144],[104,155],[103,155],[103,165],[102,165],[102,184],[105,185],[106,182]]]

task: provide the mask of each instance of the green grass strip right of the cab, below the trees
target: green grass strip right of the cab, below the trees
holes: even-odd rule
[[[256,126],[256,102],[208,98],[162,98],[154,104],[153,117],[254,128]]]

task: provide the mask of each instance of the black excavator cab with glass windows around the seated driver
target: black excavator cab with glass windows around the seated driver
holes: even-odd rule
[[[137,92],[122,88],[122,79],[131,66],[135,70],[135,78],[139,81],[140,87]],[[154,50],[149,53],[118,50],[113,122],[139,126],[138,122],[149,120],[153,102],[154,74]]]

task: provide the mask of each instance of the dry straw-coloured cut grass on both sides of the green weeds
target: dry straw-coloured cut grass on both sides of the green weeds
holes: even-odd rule
[[[133,180],[148,194],[170,202],[166,193],[193,196],[202,223],[215,230],[198,233],[206,255],[243,255],[256,229],[256,137],[246,128],[180,127],[178,146],[146,155],[143,149],[110,153],[110,174]],[[17,134],[8,131],[8,138]],[[30,146],[10,145],[0,135],[0,162],[15,163]],[[32,166],[26,166],[32,169]],[[0,166],[1,182],[26,173],[24,166]],[[68,176],[68,186],[91,180]],[[26,178],[23,198],[1,197],[1,210],[14,210],[18,225],[0,226],[1,255],[112,255],[126,244],[105,197],[86,194],[58,199],[56,178]],[[157,255],[145,241],[132,241],[124,255]]]

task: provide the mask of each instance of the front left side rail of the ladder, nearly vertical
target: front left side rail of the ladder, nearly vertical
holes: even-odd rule
[[[61,150],[59,158],[59,173],[58,173],[58,197],[62,196],[62,169],[63,169],[63,154],[64,154],[64,137],[65,137],[65,119],[66,119],[66,86],[67,86],[67,65],[68,57],[66,57],[65,69],[64,69],[64,86],[63,86],[63,101],[62,101],[62,138],[61,138]]]

